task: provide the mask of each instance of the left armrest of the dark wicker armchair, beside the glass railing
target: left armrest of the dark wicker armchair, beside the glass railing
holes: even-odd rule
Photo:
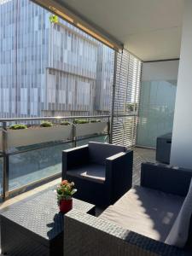
[[[89,162],[88,145],[77,148],[69,148],[62,151],[62,178],[66,177],[66,172],[75,166]]]

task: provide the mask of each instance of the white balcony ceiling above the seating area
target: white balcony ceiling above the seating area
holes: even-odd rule
[[[178,58],[184,0],[61,0],[143,61]]]

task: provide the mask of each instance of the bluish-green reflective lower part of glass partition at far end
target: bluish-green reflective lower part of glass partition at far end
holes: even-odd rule
[[[137,145],[156,147],[156,138],[172,132],[177,81],[145,81],[141,88]]]

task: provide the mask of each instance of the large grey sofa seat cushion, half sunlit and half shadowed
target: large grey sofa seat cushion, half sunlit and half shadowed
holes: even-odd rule
[[[136,186],[102,212],[101,218],[154,240],[165,241],[183,200],[177,195]]]

